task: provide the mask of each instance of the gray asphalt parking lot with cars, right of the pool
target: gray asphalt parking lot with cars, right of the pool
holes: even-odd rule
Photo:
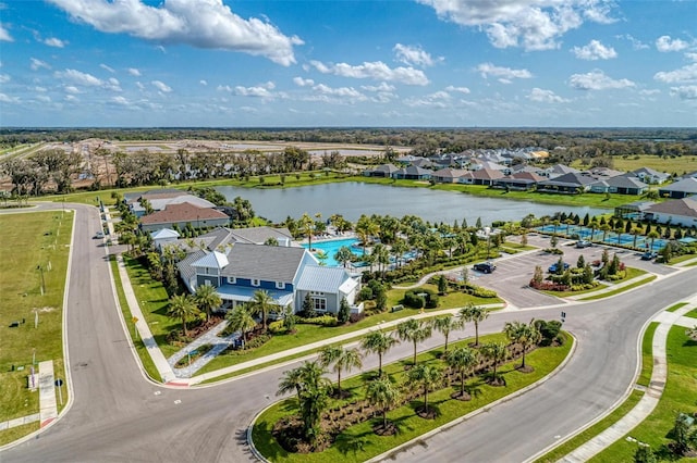
[[[602,258],[603,249],[608,249],[610,259],[616,252],[617,256],[626,266],[641,268],[658,275],[668,275],[675,272],[674,268],[665,265],[657,264],[652,261],[643,261],[641,253],[628,251],[625,249],[612,248],[607,246],[594,245],[588,248],[575,248],[575,240],[560,239],[559,249],[564,251],[562,259],[568,265],[576,266],[578,256],[583,254],[586,262],[592,263]],[[549,237],[543,235],[528,235],[528,245],[540,248],[539,250],[528,251],[521,254],[506,255],[494,259],[497,270],[491,274],[484,274],[472,270],[469,272],[470,280],[479,286],[496,290],[500,297],[509,301],[512,305],[521,309],[530,306],[543,306],[564,303],[564,300],[536,291],[528,288],[528,284],[533,278],[535,266],[542,267],[545,274],[547,268],[559,260],[558,254],[548,254],[542,249],[549,248]]]

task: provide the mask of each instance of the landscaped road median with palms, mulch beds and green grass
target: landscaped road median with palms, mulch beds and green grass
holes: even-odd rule
[[[533,367],[529,373],[519,367],[519,358],[500,364],[497,371],[504,379],[505,386],[494,386],[490,381],[490,366],[482,367],[478,374],[465,381],[465,390],[470,400],[461,400],[457,397],[462,384],[458,374],[454,374],[450,380],[445,379],[442,384],[436,381],[440,386],[433,386],[428,392],[428,406],[424,406],[424,385],[428,383],[424,383],[426,379],[421,373],[429,370],[447,371],[447,356],[443,355],[442,348],[419,354],[417,366],[413,365],[412,358],[383,366],[383,379],[375,379],[378,376],[375,371],[344,379],[341,383],[342,390],[350,396],[343,399],[330,398],[327,411],[322,415],[321,428],[323,433],[331,435],[331,445],[322,451],[291,452],[279,443],[276,436],[284,423],[294,420],[292,416],[296,414],[298,403],[295,397],[282,400],[264,410],[255,418],[250,425],[250,445],[260,456],[274,462],[364,462],[378,455],[386,456],[400,446],[407,445],[427,433],[466,420],[467,415],[477,413],[485,406],[491,406],[525,388],[534,387],[568,358],[574,340],[567,334],[564,338],[566,341],[562,346],[540,347],[528,352],[525,355],[525,364]],[[502,334],[482,336],[480,345],[503,345],[503,340]],[[449,352],[467,348],[470,342],[472,339],[453,342],[449,345]],[[286,372],[286,376],[290,376],[290,372]],[[398,399],[388,402],[395,405],[383,416],[384,405],[379,405],[380,402],[375,400],[371,384],[384,378],[389,378],[388,383],[400,392]],[[394,427],[396,433],[382,433],[381,430],[386,429],[383,421],[389,423],[387,428]],[[340,431],[332,434],[332,429]]]

